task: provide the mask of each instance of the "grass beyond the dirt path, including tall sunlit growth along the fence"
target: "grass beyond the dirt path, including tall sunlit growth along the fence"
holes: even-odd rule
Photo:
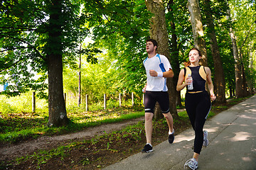
[[[18,142],[42,135],[60,135],[76,132],[84,128],[117,123],[123,120],[139,118],[144,115],[143,108],[129,106],[131,101],[122,101],[122,108],[116,107],[118,101],[108,102],[106,110],[102,103],[93,103],[90,111],[81,107],[68,105],[67,115],[70,124],[66,127],[48,128],[48,103],[44,99],[36,100],[36,113],[32,113],[32,92],[7,98],[0,95],[0,144]],[[110,108],[111,107],[111,108]]]

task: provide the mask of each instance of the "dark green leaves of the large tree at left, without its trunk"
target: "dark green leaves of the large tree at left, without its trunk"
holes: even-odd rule
[[[45,97],[43,92],[47,89],[48,79],[46,55],[49,52],[65,54],[64,63],[73,63],[78,54],[78,42],[87,35],[88,29],[83,28],[78,4],[59,2],[53,8],[50,1],[43,0],[1,3],[0,84],[12,84],[3,94],[14,96],[33,89],[41,91],[39,95]],[[58,13],[52,23],[54,17],[50,18],[50,15],[55,13],[57,7],[63,12]],[[57,39],[49,39],[51,33],[60,35]]]

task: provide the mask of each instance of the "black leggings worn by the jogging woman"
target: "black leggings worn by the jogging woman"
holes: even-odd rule
[[[203,125],[206,123],[211,107],[208,92],[186,93],[185,107],[193,130],[195,130],[194,152],[200,154],[203,146]]]

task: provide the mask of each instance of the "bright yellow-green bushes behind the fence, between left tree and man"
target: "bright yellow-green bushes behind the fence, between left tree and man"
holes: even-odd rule
[[[85,95],[88,95],[90,111],[95,110],[100,106],[103,107],[103,98],[104,94],[107,95],[107,108],[113,108],[119,106],[118,98],[119,93],[124,96],[129,96],[131,98],[131,93],[129,91],[136,92],[134,93],[134,99],[137,106],[142,105],[142,79],[145,79],[142,74],[135,74],[134,71],[129,72],[128,75],[125,74],[124,69],[119,67],[119,62],[116,58],[113,58],[110,53],[98,54],[97,64],[92,64],[87,62],[87,57],[82,55],[82,68],[81,68],[81,86],[82,86],[82,106],[85,108]],[[139,67],[143,67],[140,63]],[[143,68],[144,70],[144,68]],[[140,76],[140,77],[139,77]],[[128,88],[129,84],[125,79],[128,79],[129,82],[133,84]],[[136,77],[139,77],[139,80],[136,81]],[[143,78],[142,78],[143,77]],[[63,72],[64,80],[64,91],[68,94],[68,105],[76,106],[77,96],[78,96],[78,71],[72,68],[66,68]],[[139,85],[138,85],[139,84]],[[135,87],[134,87],[135,86]],[[136,88],[136,89],[135,89]],[[122,100],[122,105],[127,106],[127,99]],[[132,101],[129,101],[130,105]]]

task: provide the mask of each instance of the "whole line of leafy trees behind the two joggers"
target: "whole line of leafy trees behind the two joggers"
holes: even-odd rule
[[[48,126],[68,123],[63,83],[77,96],[79,72],[82,94],[93,94],[95,101],[101,91],[109,98],[117,91],[142,94],[149,37],[159,42],[159,53],[174,69],[168,83],[173,115],[181,105],[178,72],[193,46],[213,72],[218,103],[225,102],[227,91],[242,97],[255,88],[252,0],[5,0],[0,13],[1,84],[16,84],[3,94],[34,90],[48,96]]]

